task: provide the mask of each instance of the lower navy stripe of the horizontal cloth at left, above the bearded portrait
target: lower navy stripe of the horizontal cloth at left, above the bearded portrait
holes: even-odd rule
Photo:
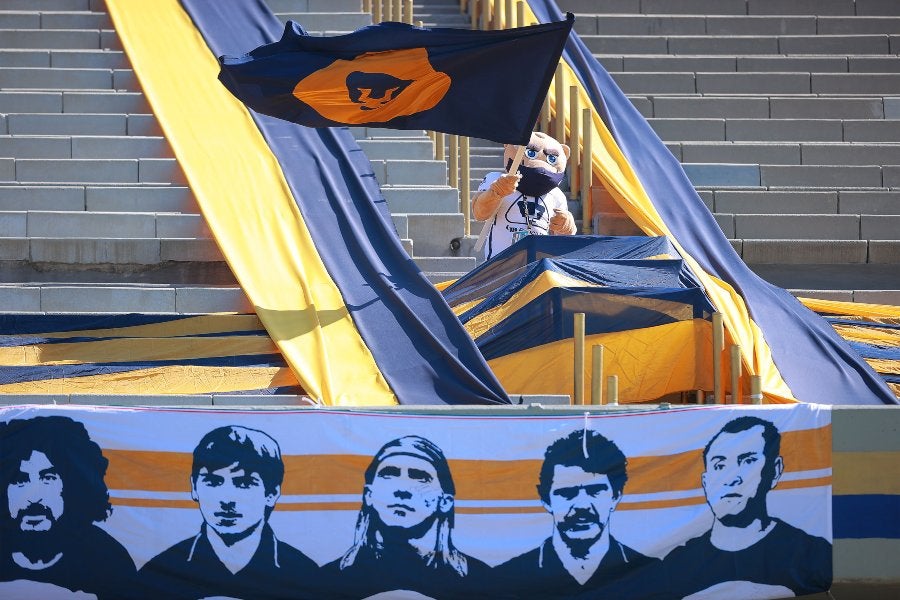
[[[26,381],[43,381],[64,377],[87,377],[90,375],[107,375],[125,373],[140,369],[158,367],[286,367],[287,363],[280,354],[253,354],[246,356],[213,356],[210,358],[192,358],[177,360],[152,360],[115,363],[84,363],[79,365],[37,365],[29,367],[0,367],[0,385],[7,383],[23,383]]]

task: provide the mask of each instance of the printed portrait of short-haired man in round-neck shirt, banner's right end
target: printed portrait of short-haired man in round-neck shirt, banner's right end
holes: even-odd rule
[[[680,597],[786,598],[831,586],[831,544],[769,515],[766,495],[784,472],[781,434],[755,416],[729,421],[703,450],[712,529],[664,561]]]

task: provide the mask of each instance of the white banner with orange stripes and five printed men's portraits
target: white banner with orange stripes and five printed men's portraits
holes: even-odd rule
[[[831,413],[0,408],[3,598],[785,598]]]

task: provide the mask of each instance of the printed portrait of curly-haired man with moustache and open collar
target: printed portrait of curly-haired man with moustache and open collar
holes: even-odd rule
[[[538,496],[553,517],[550,537],[497,567],[514,598],[645,598],[659,560],[610,532],[622,500],[627,460],[596,431],[575,431],[544,454]]]

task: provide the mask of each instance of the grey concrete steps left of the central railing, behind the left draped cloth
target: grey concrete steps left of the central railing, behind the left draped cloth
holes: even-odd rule
[[[371,22],[359,0],[271,0],[311,34]],[[102,0],[0,6],[0,306],[252,311],[211,239]],[[461,273],[459,195],[425,132],[357,128],[404,246]]]

